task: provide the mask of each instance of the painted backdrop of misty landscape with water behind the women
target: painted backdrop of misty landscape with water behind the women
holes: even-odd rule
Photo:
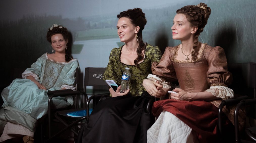
[[[176,10],[200,2],[212,11],[199,40],[224,48],[229,63],[256,62],[255,0],[9,0],[0,6],[1,90],[43,53],[51,53],[46,33],[52,24],[70,30],[72,55],[84,73],[85,67],[106,67],[111,49],[123,44],[116,30],[119,12],[142,8],[143,39],[163,52],[179,44],[170,28]]]

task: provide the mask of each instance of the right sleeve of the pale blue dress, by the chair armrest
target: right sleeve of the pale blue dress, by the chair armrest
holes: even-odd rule
[[[74,60],[71,63],[71,67],[70,67],[69,71],[67,72],[67,74],[62,79],[63,84],[61,85],[61,88],[75,90],[74,82],[76,80],[76,77],[75,77],[76,68],[79,68],[79,66],[78,66],[77,60]]]

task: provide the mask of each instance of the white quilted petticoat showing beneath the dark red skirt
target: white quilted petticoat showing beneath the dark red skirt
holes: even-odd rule
[[[172,113],[163,111],[147,131],[147,143],[190,143],[192,129]]]

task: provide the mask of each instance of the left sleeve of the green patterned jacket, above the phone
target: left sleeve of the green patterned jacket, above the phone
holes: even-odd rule
[[[120,84],[120,77],[116,75],[117,71],[120,71],[119,67],[117,66],[116,56],[115,53],[118,52],[118,48],[114,48],[111,50],[109,55],[109,63],[108,66],[103,74],[103,80],[114,80],[117,84]]]

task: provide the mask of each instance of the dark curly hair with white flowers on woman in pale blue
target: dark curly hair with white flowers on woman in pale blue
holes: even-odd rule
[[[55,34],[61,34],[63,38],[67,41],[69,39],[69,32],[66,27],[63,27],[62,25],[54,24],[52,27],[48,29],[46,38],[47,41],[51,43],[51,36]],[[67,44],[67,49],[65,50],[65,61],[69,62],[72,59],[71,56],[71,47],[68,47],[69,44]]]

